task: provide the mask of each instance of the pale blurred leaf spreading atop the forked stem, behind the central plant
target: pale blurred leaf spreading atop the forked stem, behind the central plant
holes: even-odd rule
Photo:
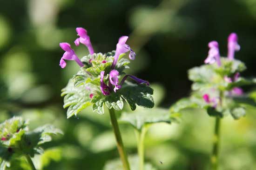
[[[131,124],[135,129],[141,131],[142,127],[147,124],[160,122],[170,124],[171,118],[168,109],[153,108],[123,113],[119,118],[119,122]]]

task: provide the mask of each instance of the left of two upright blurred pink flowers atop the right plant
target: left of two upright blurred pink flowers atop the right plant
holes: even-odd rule
[[[211,41],[208,44],[209,46],[209,52],[208,57],[204,60],[205,64],[213,64],[217,62],[217,65],[221,65],[221,59],[220,59],[220,52],[219,52],[219,45],[217,41]]]

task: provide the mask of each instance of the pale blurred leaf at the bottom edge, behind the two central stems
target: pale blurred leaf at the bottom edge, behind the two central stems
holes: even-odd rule
[[[139,170],[139,157],[138,156],[129,156],[128,161],[130,163],[131,170]],[[119,158],[108,161],[103,170],[122,170],[123,166]],[[151,164],[145,163],[144,170],[156,170]]]

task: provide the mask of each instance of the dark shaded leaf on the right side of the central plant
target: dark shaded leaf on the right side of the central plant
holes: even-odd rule
[[[126,84],[117,91],[117,94],[120,94],[121,97],[125,99],[131,110],[135,110],[135,104],[145,108],[154,107],[154,99],[151,96],[153,89],[144,83],[136,85],[126,82]]]

